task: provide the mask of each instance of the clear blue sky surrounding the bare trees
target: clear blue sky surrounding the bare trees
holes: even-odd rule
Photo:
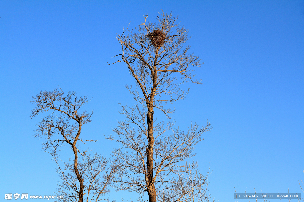
[[[202,172],[211,165],[211,194],[223,202],[234,201],[234,187],[302,192],[304,1],[1,1],[1,201],[57,187],[55,164],[33,137],[39,118],[29,117],[38,90],[92,97],[83,133],[100,140],[99,153],[118,146],[103,135],[123,118],[118,102],[133,103],[124,85],[134,81],[122,63],[107,65],[119,50],[115,35],[161,9],[179,15],[193,35],[190,52],[205,61],[196,68],[203,84],[187,84],[174,118],[181,129],[207,119],[213,127],[195,151]]]

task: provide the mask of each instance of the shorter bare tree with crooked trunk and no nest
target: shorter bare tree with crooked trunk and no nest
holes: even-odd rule
[[[107,187],[111,184],[116,167],[109,166],[108,158],[96,153],[92,155],[88,149],[81,151],[79,147],[85,142],[95,142],[81,137],[82,126],[91,122],[92,111],[81,111],[81,107],[89,101],[87,96],[81,97],[75,92],[64,95],[61,89],[40,91],[32,100],[36,105],[32,118],[41,112],[49,112],[37,124],[35,137],[45,139],[43,149],[50,150],[57,164],[60,175],[57,191],[64,196],[59,201],[109,201],[101,196],[109,193]],[[73,156],[69,161],[59,158],[58,151],[62,146],[72,151]]]

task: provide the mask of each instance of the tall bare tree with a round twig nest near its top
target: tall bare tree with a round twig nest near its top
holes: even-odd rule
[[[117,136],[108,137],[127,149],[113,151],[120,165],[116,189],[136,191],[140,201],[146,201],[142,198],[145,192],[149,202],[209,200],[208,174],[197,173],[196,162],[186,162],[195,155],[201,134],[211,130],[209,122],[201,128],[193,124],[184,132],[174,127],[175,121],[156,123],[154,118],[154,108],[171,118],[175,109],[166,104],[185,98],[189,89],[181,90],[182,83],[201,82],[194,79],[192,68],[202,62],[187,53],[188,30],[177,23],[178,17],[162,13],[157,23],[147,22],[147,17],[134,31],[127,28],[116,36],[121,53],[114,56],[119,57],[114,63],[125,63],[137,86],[126,86],[137,104],[131,108],[121,105],[126,119],[114,129]]]

